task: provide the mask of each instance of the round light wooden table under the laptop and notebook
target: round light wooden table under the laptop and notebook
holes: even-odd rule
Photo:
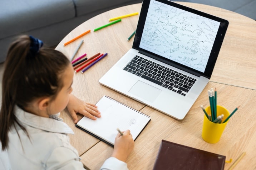
[[[134,150],[127,160],[131,170],[152,169],[162,139],[222,154],[226,156],[226,160],[232,158],[234,161],[242,152],[246,152],[235,169],[255,169],[256,21],[218,7],[189,2],[177,3],[229,21],[210,82],[183,121],[177,121],[99,84],[98,80],[103,74],[132,48],[133,38],[130,41],[127,41],[127,38],[136,30],[139,16],[123,18],[121,22],[99,31],[93,32],[93,29],[109,23],[109,18],[140,12],[141,4],[123,6],[97,15],[76,27],[59,43],[56,50],[69,58],[82,39],[84,43],[75,58],[84,53],[87,53],[88,57],[99,52],[108,53],[107,57],[85,73],[75,74],[73,94],[91,103],[96,103],[103,95],[108,95],[151,116],[151,122],[136,139]],[[91,32],[63,46],[65,42],[87,30]],[[201,137],[203,112],[200,105],[209,105],[207,90],[211,87],[217,87],[218,103],[230,112],[241,105],[241,109],[232,117],[221,140],[216,144],[208,144]],[[67,110],[61,113],[61,117],[75,132],[74,136],[70,136],[70,143],[77,148],[83,163],[90,169],[99,169],[104,160],[112,154],[113,148],[76,128]],[[231,164],[226,164],[225,169]]]

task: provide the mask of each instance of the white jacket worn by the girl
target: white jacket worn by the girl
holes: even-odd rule
[[[36,116],[15,107],[18,121],[26,128],[29,137],[16,124],[9,131],[7,153],[13,170],[78,170],[83,164],[77,150],[70,145],[67,134],[72,129],[59,118],[59,113],[50,118]],[[20,139],[19,139],[20,138]],[[127,164],[116,158],[108,158],[101,169],[127,170]]]

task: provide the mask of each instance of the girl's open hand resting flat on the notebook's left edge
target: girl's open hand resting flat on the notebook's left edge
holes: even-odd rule
[[[78,122],[77,113],[80,113],[81,115],[93,120],[95,120],[96,117],[100,117],[100,112],[98,111],[96,105],[84,102],[72,94],[70,94],[67,108],[71,117],[73,118],[74,123]]]

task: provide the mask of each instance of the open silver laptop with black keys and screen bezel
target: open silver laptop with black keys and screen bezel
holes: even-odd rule
[[[182,120],[211,78],[228,21],[143,0],[133,46],[99,83]]]

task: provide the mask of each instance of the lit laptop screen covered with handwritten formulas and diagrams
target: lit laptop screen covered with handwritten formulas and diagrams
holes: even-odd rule
[[[219,25],[152,0],[139,47],[204,72]]]

